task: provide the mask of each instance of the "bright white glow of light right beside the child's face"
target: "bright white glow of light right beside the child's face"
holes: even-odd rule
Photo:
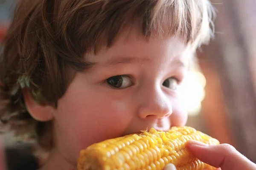
[[[183,104],[190,116],[198,115],[204,99],[206,80],[199,71],[189,71],[181,86]]]

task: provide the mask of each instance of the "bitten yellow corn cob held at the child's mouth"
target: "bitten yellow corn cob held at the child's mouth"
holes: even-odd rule
[[[78,170],[162,170],[172,163],[177,170],[213,170],[186,148],[189,139],[219,144],[192,127],[172,127],[167,132],[154,128],[92,144],[81,150]]]

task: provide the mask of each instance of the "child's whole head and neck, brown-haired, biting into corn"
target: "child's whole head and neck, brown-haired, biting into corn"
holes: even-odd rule
[[[22,0],[3,42],[0,117],[76,169],[90,144],[186,124],[179,87],[212,36],[208,0]]]

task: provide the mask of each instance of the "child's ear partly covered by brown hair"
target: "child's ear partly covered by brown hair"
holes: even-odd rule
[[[47,122],[54,118],[54,108],[51,105],[41,105],[36,102],[26,88],[23,88],[22,91],[26,108],[34,119]]]

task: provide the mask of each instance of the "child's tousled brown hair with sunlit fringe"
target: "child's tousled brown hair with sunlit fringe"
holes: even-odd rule
[[[52,147],[51,122],[30,116],[27,88],[38,103],[56,107],[85,63],[88,51],[110,47],[124,28],[146,38],[185,37],[195,48],[212,36],[214,12],[208,0],[21,0],[3,40],[0,56],[0,120],[16,134]]]

